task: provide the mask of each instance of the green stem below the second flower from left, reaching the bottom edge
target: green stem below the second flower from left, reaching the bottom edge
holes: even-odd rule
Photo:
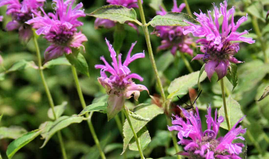
[[[79,95],[79,99],[80,99],[80,103],[82,105],[82,108],[86,108],[86,102],[84,100],[84,97],[83,97],[83,94],[82,94],[82,90],[81,90],[81,87],[80,87],[80,84],[79,84],[79,78],[77,76],[77,71],[76,71],[76,68],[75,66],[71,66],[71,69],[72,69],[72,73],[73,73],[73,76],[74,76],[74,79],[75,79],[75,84],[76,84],[76,88],[77,88],[77,93]],[[90,131],[91,131],[91,135],[93,136],[93,140],[95,142],[95,145],[97,146],[97,149],[99,150],[99,153],[100,153],[100,156],[102,159],[105,159],[105,154],[100,146],[100,142],[97,138],[97,135],[95,133],[95,130],[94,130],[94,127],[93,127],[93,123],[91,122],[91,116],[93,115],[93,112],[91,112],[90,114],[89,113],[86,113],[85,116],[87,118],[89,118],[87,120],[87,123],[89,125],[89,128],[90,128]]]

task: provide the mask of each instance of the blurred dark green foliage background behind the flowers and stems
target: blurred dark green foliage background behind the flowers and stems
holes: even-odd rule
[[[153,0],[154,1],[154,0]],[[78,2],[78,1],[77,1]],[[84,4],[85,12],[90,13],[97,8],[100,8],[107,3],[104,0],[95,1],[81,1]],[[151,0],[144,0],[143,7],[145,11],[146,21],[150,21],[155,14],[155,10],[149,6]],[[189,0],[190,9],[192,12],[199,13],[201,9],[204,13],[206,10],[212,10],[214,3],[219,6],[221,1],[211,0]],[[167,10],[172,8],[172,0],[163,2]],[[178,1],[178,5],[182,1]],[[230,8],[232,5],[236,7],[236,19],[239,19],[245,13],[249,13],[248,20],[243,23],[240,28],[241,31],[249,28],[253,28],[251,17],[255,15],[259,20],[259,27],[262,29],[263,38],[265,39],[266,46],[269,43],[269,24],[266,23],[264,12],[269,9],[269,2],[266,1],[235,1],[228,2]],[[264,7],[259,7],[259,4],[263,4]],[[254,5],[254,6],[253,6]],[[52,11],[51,1],[45,4],[45,10],[47,12]],[[250,8],[250,7],[254,7]],[[0,8],[0,14],[5,15],[5,7]],[[138,19],[139,12],[137,11]],[[186,12],[186,9],[183,10]],[[266,12],[265,12],[266,13]],[[261,18],[259,18],[261,17]],[[262,19],[264,18],[264,19]],[[33,40],[30,40],[27,44],[18,39],[17,32],[5,32],[4,28],[11,18],[4,16],[4,21],[1,25],[3,31],[0,32],[0,50],[1,56],[4,59],[3,67],[10,68],[16,61],[25,59],[27,61],[35,61],[37,63],[35,47]],[[90,69],[90,78],[80,75],[80,84],[82,85],[84,98],[87,105],[91,104],[92,100],[105,93],[104,88],[97,82],[97,77],[100,76],[99,70],[94,69],[95,64],[102,63],[100,56],[104,55],[109,61],[110,54],[105,44],[105,37],[113,42],[112,29],[94,29],[93,17],[85,17],[81,19],[84,25],[80,28],[82,32],[87,36],[88,42],[84,44],[86,52],[83,54],[88,62]],[[146,57],[144,59],[138,59],[132,62],[130,70],[132,72],[140,74],[144,77],[143,82],[136,81],[137,83],[144,84],[150,91],[150,94],[158,94],[158,88],[155,86],[154,75],[150,60],[147,53],[146,41],[142,28],[139,28],[139,34],[129,27],[124,25],[126,38],[121,48],[123,57],[126,56],[127,51],[132,42],[137,41],[136,46],[133,49],[132,54],[142,52],[145,50]],[[149,31],[152,32],[153,28],[149,27]],[[247,155],[249,158],[268,158],[268,144],[269,144],[269,125],[268,125],[268,103],[269,97],[266,97],[261,102],[256,102],[255,99],[259,99],[263,90],[269,85],[269,66],[263,64],[263,54],[261,52],[261,43],[257,39],[257,35],[254,30],[250,31],[248,35],[256,40],[253,45],[245,43],[240,44],[240,51],[236,54],[238,60],[245,61],[243,64],[238,65],[238,86],[232,91],[232,85],[225,79],[225,85],[230,90],[230,95],[240,103],[243,114],[247,117],[243,121],[243,125],[248,128],[247,133],[244,135],[247,141]],[[160,71],[161,78],[163,80],[164,87],[167,88],[172,80],[179,76],[188,74],[182,59],[180,57],[173,57],[169,51],[157,52],[157,47],[160,45],[161,39],[155,35],[151,35],[151,43],[154,51],[155,60],[157,61],[158,69]],[[38,39],[41,53],[47,48],[48,43],[45,39]],[[195,54],[199,53],[199,49],[195,49]],[[269,47],[267,47],[267,56],[269,56]],[[164,55],[167,57],[164,59]],[[187,55],[186,55],[187,56]],[[190,61],[192,57],[187,56]],[[164,67],[166,66],[166,67]],[[191,66],[194,71],[199,71],[202,64],[198,61],[191,62]],[[4,71],[4,68],[0,67],[0,72]],[[71,69],[69,66],[54,66],[49,69],[45,69],[45,77],[49,84],[49,88],[52,93],[55,105],[61,104],[63,101],[68,102],[68,108],[65,111],[65,115],[78,114],[82,109],[77,95],[76,88],[74,86]],[[226,77],[225,77],[226,78]],[[205,110],[208,103],[211,103],[213,107],[220,108],[222,105],[220,85],[217,83],[217,78],[210,83],[208,79],[201,83],[203,92],[199,97],[197,106],[201,110]],[[197,88],[197,87],[194,87]],[[167,91],[166,91],[167,92]],[[185,101],[188,100],[187,95],[183,97]],[[130,105],[137,105],[142,102],[150,102],[150,98],[146,91],[141,92],[139,102],[129,100]],[[182,104],[175,101],[177,104]],[[11,72],[0,81],[0,113],[4,113],[1,120],[1,127],[10,127],[17,125],[23,127],[27,131],[37,129],[41,123],[49,120],[47,117],[47,110],[49,108],[48,100],[41,83],[41,78],[36,69],[22,69],[20,71]],[[200,115],[204,116],[206,111],[201,111]],[[205,122],[205,119],[202,119]],[[122,158],[119,154],[122,151],[122,138],[117,129],[114,119],[107,122],[106,114],[94,113],[92,122],[98,138],[105,146],[105,153],[107,158]],[[164,156],[170,156],[169,159],[175,158],[173,151],[171,136],[167,133],[167,123],[165,115],[159,115],[154,120],[147,124],[148,131],[151,139],[154,141],[148,147],[147,157],[160,158]],[[221,133],[226,133],[226,130],[221,129]],[[66,150],[69,158],[98,158],[98,151],[94,147],[94,141],[91,137],[90,131],[87,128],[87,123],[83,121],[80,124],[72,124],[68,128],[62,130]],[[8,144],[12,139],[4,138],[0,135],[0,153],[3,158],[6,158],[5,151]],[[153,142],[152,141],[152,142]],[[24,158],[61,158],[61,151],[59,149],[58,139],[56,135],[48,142],[48,144],[40,149],[43,140],[39,137],[34,139],[28,145],[24,146],[16,155],[14,159]],[[128,151],[128,158],[139,158],[136,151]],[[167,158],[168,159],[168,158]]]

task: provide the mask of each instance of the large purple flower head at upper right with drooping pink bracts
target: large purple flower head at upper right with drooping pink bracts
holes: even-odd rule
[[[213,4],[214,5],[214,4]],[[217,73],[218,79],[226,76],[228,66],[230,62],[235,64],[241,63],[235,57],[233,57],[239,50],[239,43],[234,43],[234,41],[242,41],[246,43],[254,43],[252,38],[245,38],[242,35],[248,34],[248,31],[242,33],[236,32],[240,24],[247,20],[247,15],[241,17],[237,23],[234,23],[233,14],[235,13],[234,7],[227,10],[227,1],[224,1],[224,5],[220,3],[219,9],[214,5],[214,20],[212,19],[210,13],[207,11],[208,16],[203,12],[194,15],[197,16],[196,20],[200,25],[195,25],[189,23],[191,27],[184,30],[184,34],[192,33],[193,36],[205,37],[203,39],[198,39],[196,42],[201,43],[200,50],[204,54],[197,54],[192,60],[203,59],[206,62],[205,71],[207,77],[211,80],[214,72]],[[223,16],[223,22],[220,32],[220,24],[218,19]],[[231,16],[231,23],[228,23],[229,17]]]

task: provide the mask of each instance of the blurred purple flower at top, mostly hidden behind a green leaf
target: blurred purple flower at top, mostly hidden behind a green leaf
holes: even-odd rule
[[[143,1],[141,1],[143,3]],[[122,5],[126,8],[138,8],[137,5],[137,0],[107,0],[107,3],[110,5]],[[137,29],[137,26],[134,25],[131,22],[126,21],[130,27],[133,27],[134,29]],[[101,18],[96,18],[94,21],[94,28],[98,29],[100,27],[104,27],[106,29],[112,28],[116,25],[116,21],[109,20],[109,19],[101,19]]]

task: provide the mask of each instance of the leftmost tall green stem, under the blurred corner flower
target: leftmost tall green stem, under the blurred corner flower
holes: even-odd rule
[[[37,59],[38,59],[39,73],[40,73],[40,76],[41,76],[41,79],[42,79],[43,86],[45,88],[45,92],[46,92],[47,97],[48,97],[48,100],[49,100],[49,105],[50,105],[50,107],[52,109],[52,113],[53,113],[54,119],[56,120],[57,119],[57,116],[56,116],[55,110],[54,110],[54,102],[53,102],[53,99],[51,97],[51,93],[49,91],[49,87],[48,87],[48,84],[46,82],[46,79],[45,79],[45,76],[44,76],[44,73],[43,73],[43,69],[42,69],[40,49],[39,49],[39,46],[38,46],[38,43],[37,43],[37,38],[36,38],[36,35],[35,35],[36,33],[33,31],[33,34],[34,34],[33,35],[33,39],[34,39],[34,44],[35,44],[35,47],[36,47],[36,54],[37,54]],[[60,142],[60,146],[61,146],[61,151],[62,151],[63,158],[64,159],[67,159],[67,155],[66,155],[64,144],[63,144],[63,139],[62,139],[61,131],[58,131],[57,132],[57,135],[58,135],[58,138],[59,138],[59,142]]]

